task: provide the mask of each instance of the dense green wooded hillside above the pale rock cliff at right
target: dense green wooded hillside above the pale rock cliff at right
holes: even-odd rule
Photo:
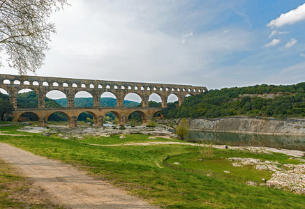
[[[168,104],[161,114],[166,118],[218,118],[224,116],[273,116],[279,118],[305,116],[305,83],[289,86],[256,85],[241,88],[210,90],[187,97],[179,107]],[[281,93],[275,98],[261,98],[257,94]],[[248,96],[245,94],[250,94]],[[245,95],[239,98],[240,95]]]

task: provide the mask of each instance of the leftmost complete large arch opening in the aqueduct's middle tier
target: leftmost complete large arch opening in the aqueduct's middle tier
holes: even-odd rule
[[[36,92],[24,88],[17,93],[17,108],[38,108],[38,97]]]

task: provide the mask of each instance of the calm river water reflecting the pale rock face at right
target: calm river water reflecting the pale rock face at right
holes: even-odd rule
[[[267,146],[290,150],[305,150],[304,136],[271,136],[261,134],[237,134],[228,132],[190,131],[188,141],[204,139],[215,144],[230,144],[231,146]]]

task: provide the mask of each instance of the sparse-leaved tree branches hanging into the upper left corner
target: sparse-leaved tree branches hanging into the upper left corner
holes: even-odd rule
[[[8,66],[20,75],[41,67],[50,33],[56,33],[47,19],[65,5],[67,0],[0,1],[0,52],[8,56]]]

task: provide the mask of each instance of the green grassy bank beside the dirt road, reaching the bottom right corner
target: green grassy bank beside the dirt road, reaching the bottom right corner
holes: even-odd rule
[[[125,142],[146,142],[152,139],[144,135],[130,135],[126,139],[112,136],[71,140],[16,132],[15,129],[16,127],[0,127],[0,131],[26,136],[0,135],[0,142],[12,144],[37,155],[77,164],[90,173],[110,180],[115,185],[128,189],[132,194],[165,208],[304,207],[304,196],[174,171],[167,167],[159,168],[156,164],[162,166],[162,160],[168,155],[196,153],[198,147],[195,146],[92,146],[89,144],[121,144],[124,140]],[[172,140],[158,138],[153,141]],[[255,155],[253,158],[268,157],[262,154],[251,155]],[[281,156],[283,155],[274,155],[274,159],[281,159]]]

